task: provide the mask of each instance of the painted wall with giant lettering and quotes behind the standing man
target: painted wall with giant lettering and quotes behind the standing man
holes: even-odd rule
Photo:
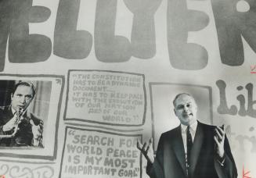
[[[135,141],[156,147],[186,91],[202,122],[225,123],[239,177],[255,177],[254,11],[243,0],[2,0],[0,79],[52,80],[54,107],[51,144],[1,148],[1,174],[147,177]]]

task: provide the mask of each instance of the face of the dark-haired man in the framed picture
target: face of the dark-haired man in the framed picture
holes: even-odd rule
[[[33,100],[33,91],[31,87],[20,85],[11,96],[12,107],[16,111],[27,109]]]

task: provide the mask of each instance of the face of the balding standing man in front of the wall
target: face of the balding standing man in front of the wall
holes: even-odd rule
[[[175,115],[180,122],[189,126],[197,121],[197,104],[196,101],[187,94],[178,96],[175,101]]]

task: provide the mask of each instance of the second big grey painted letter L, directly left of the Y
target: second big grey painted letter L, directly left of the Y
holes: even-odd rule
[[[128,38],[114,34],[117,0],[98,0],[95,20],[95,52],[101,62],[126,62],[131,56]]]

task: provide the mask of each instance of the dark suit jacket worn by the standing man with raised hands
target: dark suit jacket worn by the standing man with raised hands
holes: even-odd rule
[[[235,178],[236,165],[225,137],[224,166],[218,162],[215,151],[215,126],[198,122],[193,141],[189,171],[192,178]],[[186,156],[181,126],[163,133],[153,164],[148,163],[146,173],[151,178],[186,178]]]

